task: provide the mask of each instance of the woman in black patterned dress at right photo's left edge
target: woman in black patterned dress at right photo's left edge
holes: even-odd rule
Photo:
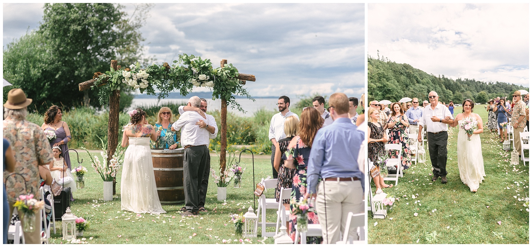
[[[384,149],[384,143],[388,142],[388,137],[383,130],[383,126],[378,122],[379,111],[373,107],[368,109],[369,121],[368,123],[368,158],[373,162],[373,166],[370,168],[370,175],[373,178],[376,192],[382,191],[381,188],[393,187],[393,184],[385,184],[383,177],[380,176],[380,167],[377,163],[380,157],[383,157],[386,152]]]

